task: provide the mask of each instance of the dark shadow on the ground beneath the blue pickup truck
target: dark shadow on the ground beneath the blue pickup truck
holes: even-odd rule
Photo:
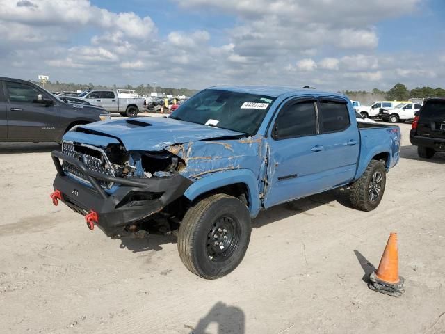
[[[350,208],[349,191],[347,189],[334,189],[326,191],[325,193],[319,193],[314,196],[302,198],[300,200],[293,200],[276,207],[271,207],[263,212],[260,212],[257,218],[252,221],[252,228],[261,228],[264,225],[280,221],[290,216],[298,216],[299,214],[305,216],[314,216],[309,211],[321,205],[327,205],[329,207],[342,207]],[[160,235],[156,233],[149,234],[136,234],[132,237],[120,237],[120,248],[126,248],[133,253],[144,252],[148,250],[162,250],[162,245],[176,244],[177,237],[171,235]]]

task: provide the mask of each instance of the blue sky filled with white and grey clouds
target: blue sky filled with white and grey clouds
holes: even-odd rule
[[[445,88],[445,0],[0,0],[0,76]]]

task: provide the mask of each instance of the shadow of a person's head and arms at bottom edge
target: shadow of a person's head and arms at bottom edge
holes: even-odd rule
[[[217,334],[244,334],[245,333],[245,315],[241,308],[228,306],[218,301],[213,308],[198,321],[196,326],[184,324],[185,328],[191,329],[189,334],[209,333],[209,326],[216,324],[218,326]]]

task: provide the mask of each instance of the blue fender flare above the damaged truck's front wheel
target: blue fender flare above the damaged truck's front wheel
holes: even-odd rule
[[[247,187],[248,200],[250,204],[249,212],[250,216],[254,218],[261,209],[261,200],[259,198],[258,180],[252,170],[224,170],[222,172],[213,173],[211,175],[202,177],[188,187],[188,189],[184,192],[184,196],[189,200],[195,200],[195,198],[203,193],[236,183],[243,183]]]

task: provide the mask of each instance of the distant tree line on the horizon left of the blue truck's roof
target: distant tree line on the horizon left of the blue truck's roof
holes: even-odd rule
[[[31,80],[29,80],[31,81]],[[34,84],[40,85],[39,81],[31,81]],[[48,81],[44,84],[44,88],[49,90],[50,92],[61,92],[61,91],[73,91],[76,92],[77,90],[86,90],[86,89],[133,89],[136,91],[136,93],[140,95],[150,95],[152,92],[156,93],[163,93],[163,94],[171,94],[171,95],[186,95],[191,96],[195,93],[197,93],[197,90],[195,89],[188,89],[188,88],[164,88],[161,86],[150,86],[150,84],[140,84],[139,86],[104,86],[104,85],[95,85],[91,82],[88,84],[74,84],[72,82],[70,83],[64,83],[59,81]]]

